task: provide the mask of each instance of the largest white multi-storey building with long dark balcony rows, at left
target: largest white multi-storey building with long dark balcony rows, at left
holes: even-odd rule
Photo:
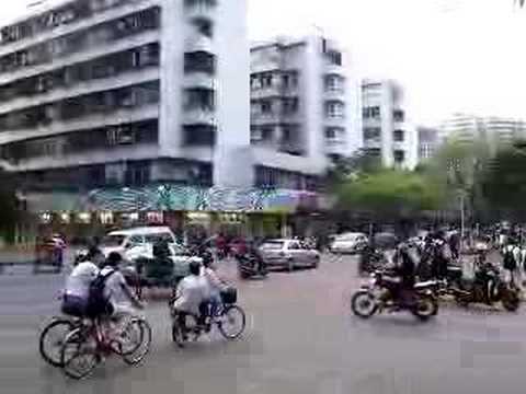
[[[0,37],[1,158],[27,187],[252,186],[247,0],[70,0]]]

